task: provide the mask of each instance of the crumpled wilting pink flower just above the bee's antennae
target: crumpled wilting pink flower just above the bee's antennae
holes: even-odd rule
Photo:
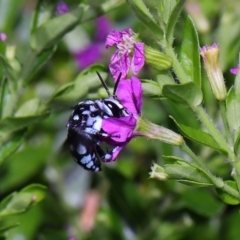
[[[119,74],[122,74],[122,78],[127,78],[130,70],[137,75],[144,66],[144,43],[137,42],[136,37],[130,28],[120,32],[113,30],[107,36],[106,47],[116,46],[118,49],[111,57],[109,65],[115,81]]]

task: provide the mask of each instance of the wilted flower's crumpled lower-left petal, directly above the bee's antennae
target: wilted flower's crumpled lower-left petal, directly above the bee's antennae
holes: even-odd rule
[[[111,57],[109,70],[115,81],[117,81],[120,74],[121,78],[125,78],[130,69],[130,57],[128,53],[121,55],[119,51],[116,51]]]

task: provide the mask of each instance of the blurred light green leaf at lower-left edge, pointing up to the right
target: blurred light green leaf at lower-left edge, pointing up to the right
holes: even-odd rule
[[[31,184],[20,192],[14,192],[0,203],[0,217],[25,212],[46,195],[46,187],[40,184]]]

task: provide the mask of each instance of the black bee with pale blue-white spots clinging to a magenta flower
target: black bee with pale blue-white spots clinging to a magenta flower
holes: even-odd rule
[[[129,116],[126,108],[117,99],[116,91],[121,75],[114,86],[113,94],[100,74],[97,72],[103,87],[108,94],[107,98],[98,100],[86,100],[79,102],[73,109],[68,120],[68,144],[73,159],[84,169],[90,171],[101,171],[101,163],[108,162],[118,146],[105,152],[100,143],[109,136],[102,130],[102,120],[104,118],[120,118]]]

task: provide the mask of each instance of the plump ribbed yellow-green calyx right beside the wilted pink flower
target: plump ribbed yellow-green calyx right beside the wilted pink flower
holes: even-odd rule
[[[146,63],[151,67],[162,71],[172,66],[172,60],[164,53],[145,45],[144,55]]]

